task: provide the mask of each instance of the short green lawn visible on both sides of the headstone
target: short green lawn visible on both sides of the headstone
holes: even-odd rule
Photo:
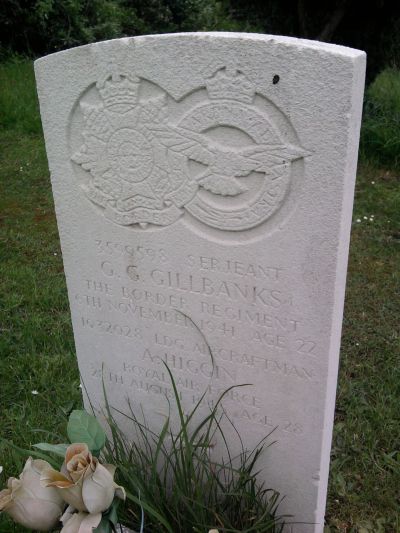
[[[0,65],[0,87],[0,436],[29,447],[45,440],[37,428],[65,434],[81,394],[31,63]],[[356,187],[330,533],[400,532],[400,188],[395,171],[368,159]],[[21,459],[3,446],[0,465],[2,486]],[[25,530],[1,516],[0,531]]]

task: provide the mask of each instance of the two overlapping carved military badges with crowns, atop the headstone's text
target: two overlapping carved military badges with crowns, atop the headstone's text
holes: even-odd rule
[[[87,198],[109,220],[168,226],[187,211],[207,226],[242,231],[280,208],[291,163],[307,152],[285,140],[242,72],[223,68],[206,78],[198,88],[203,102],[178,123],[171,97],[157,87],[160,94],[146,99],[144,83],[114,72],[75,110],[82,144],[71,159],[85,171]]]

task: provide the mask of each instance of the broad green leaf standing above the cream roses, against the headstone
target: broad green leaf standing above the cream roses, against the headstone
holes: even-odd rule
[[[71,442],[83,442],[94,454],[100,453],[106,442],[106,434],[97,419],[86,411],[72,411],[67,426]]]

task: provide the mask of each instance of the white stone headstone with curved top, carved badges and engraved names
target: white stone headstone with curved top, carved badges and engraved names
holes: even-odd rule
[[[193,33],[35,68],[92,402],[102,365],[110,403],[129,397],[155,427],[162,361],[188,410],[207,387],[252,384],[227,414],[249,448],[276,428],[266,484],[305,523],[289,531],[322,532],[365,54]]]

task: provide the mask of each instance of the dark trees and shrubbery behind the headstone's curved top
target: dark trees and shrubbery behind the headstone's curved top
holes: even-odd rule
[[[400,62],[398,0],[2,0],[4,55],[177,31],[257,31],[365,50],[368,77]]]

